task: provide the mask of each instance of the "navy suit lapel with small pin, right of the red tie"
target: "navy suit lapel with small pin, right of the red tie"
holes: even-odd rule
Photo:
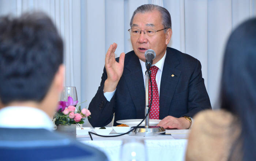
[[[174,54],[167,48],[160,85],[159,119],[165,118],[169,113],[170,103],[181,74],[181,71],[175,68],[179,62]]]

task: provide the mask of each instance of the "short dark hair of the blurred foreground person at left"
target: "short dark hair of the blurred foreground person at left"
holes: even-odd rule
[[[0,98],[36,101],[45,98],[63,63],[63,42],[46,15],[0,19]]]

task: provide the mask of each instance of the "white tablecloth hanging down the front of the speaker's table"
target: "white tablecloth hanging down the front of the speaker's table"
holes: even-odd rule
[[[91,132],[94,132],[93,129]],[[118,133],[112,130],[106,136],[115,135],[118,135]],[[184,161],[188,138],[188,134],[184,133],[162,133],[147,137],[129,136],[129,134],[118,137],[100,137],[93,134],[91,136],[93,140],[91,140],[89,134],[76,135],[76,140],[102,150],[109,161],[129,160],[127,154],[129,155],[130,150],[136,147],[135,150],[139,150],[137,153],[145,156],[143,158],[145,161]],[[142,144],[138,144],[138,142]],[[130,146],[125,149],[124,147],[127,148],[127,145]],[[134,153],[132,152],[131,155],[134,155]]]

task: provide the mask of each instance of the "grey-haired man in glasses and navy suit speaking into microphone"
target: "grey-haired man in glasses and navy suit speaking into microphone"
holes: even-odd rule
[[[145,4],[131,18],[133,51],[114,59],[117,44],[106,53],[101,84],[89,110],[92,126],[105,126],[114,117],[142,119],[145,115],[145,51],[156,53],[151,79],[153,102],[150,119],[162,119],[158,126],[188,129],[191,118],[200,110],[211,108],[199,60],[167,47],[172,37],[170,13],[163,7]],[[149,90],[151,93],[151,90]]]

